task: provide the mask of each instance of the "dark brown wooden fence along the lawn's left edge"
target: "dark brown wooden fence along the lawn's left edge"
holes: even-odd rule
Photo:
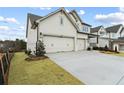
[[[6,85],[8,83],[8,74],[10,61],[14,53],[3,53],[0,54],[0,85]]]

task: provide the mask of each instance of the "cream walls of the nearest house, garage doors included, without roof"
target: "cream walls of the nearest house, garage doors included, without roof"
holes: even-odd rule
[[[61,24],[61,17],[63,24]],[[27,49],[35,51],[37,41],[37,28],[31,29],[29,23]],[[40,33],[42,35],[40,36]],[[61,51],[84,50],[88,47],[88,35],[77,33],[77,29],[67,16],[61,12],[56,13],[39,23],[39,39],[43,40],[47,53]],[[79,40],[81,39],[81,40]]]

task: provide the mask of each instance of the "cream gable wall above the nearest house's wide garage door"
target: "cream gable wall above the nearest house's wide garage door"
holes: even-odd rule
[[[63,18],[63,24],[61,24],[61,17]],[[72,37],[75,37],[76,35],[76,28],[68,20],[65,14],[61,15],[60,12],[40,22],[39,29],[43,34]]]

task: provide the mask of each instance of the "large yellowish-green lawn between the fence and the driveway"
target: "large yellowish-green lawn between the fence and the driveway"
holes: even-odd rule
[[[8,84],[19,85],[72,85],[83,84],[50,59],[25,61],[23,52],[16,53],[11,61]]]

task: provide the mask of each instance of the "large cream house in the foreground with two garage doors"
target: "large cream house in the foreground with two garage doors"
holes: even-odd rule
[[[78,51],[89,46],[91,25],[80,19],[75,10],[66,12],[60,8],[46,16],[28,14],[27,18],[27,50],[36,51],[36,42],[41,40],[45,51]]]

